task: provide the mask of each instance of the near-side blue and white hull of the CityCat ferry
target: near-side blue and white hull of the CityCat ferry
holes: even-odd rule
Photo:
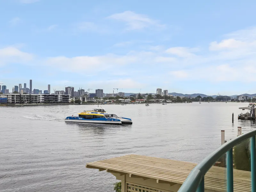
[[[67,117],[65,121],[76,122],[76,123],[122,124],[122,121],[120,119],[115,119],[115,118],[84,119],[81,117]]]

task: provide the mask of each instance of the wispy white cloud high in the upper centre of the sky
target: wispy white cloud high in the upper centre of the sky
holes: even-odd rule
[[[157,20],[150,19],[146,15],[136,14],[132,11],[125,11],[110,15],[109,19],[114,19],[126,23],[127,30],[137,30],[143,28],[163,28],[164,25],[159,24]]]

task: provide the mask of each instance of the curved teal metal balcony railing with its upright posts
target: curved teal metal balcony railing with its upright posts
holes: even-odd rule
[[[251,184],[252,191],[256,191],[255,135],[256,130],[245,133],[226,142],[220,148],[212,152],[190,172],[178,192],[193,192],[196,190],[197,192],[203,192],[205,173],[225,153],[227,153],[227,192],[233,192],[233,147],[249,138],[251,138]]]

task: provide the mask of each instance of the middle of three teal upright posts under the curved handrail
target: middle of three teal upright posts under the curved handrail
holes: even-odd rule
[[[233,148],[227,151],[227,191],[234,192]]]

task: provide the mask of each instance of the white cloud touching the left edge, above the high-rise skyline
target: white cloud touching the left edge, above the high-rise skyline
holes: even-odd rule
[[[22,52],[16,47],[6,47],[0,49],[0,65],[11,63],[24,63],[33,60],[32,54]]]

